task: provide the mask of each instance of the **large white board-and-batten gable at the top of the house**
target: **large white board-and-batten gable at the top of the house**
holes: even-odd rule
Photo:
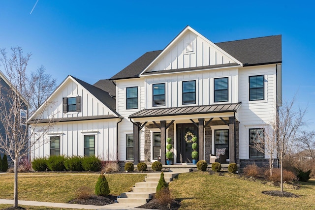
[[[187,26],[173,41],[141,72],[211,66],[238,63],[213,42]]]

